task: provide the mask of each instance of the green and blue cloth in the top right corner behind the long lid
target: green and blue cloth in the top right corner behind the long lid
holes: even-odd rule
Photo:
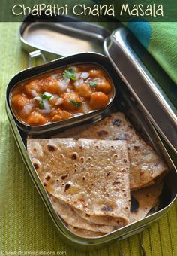
[[[177,84],[177,23],[135,21],[126,26]]]

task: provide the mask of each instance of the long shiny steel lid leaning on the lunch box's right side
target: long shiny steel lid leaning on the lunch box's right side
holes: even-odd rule
[[[133,44],[137,44],[133,35],[121,27],[105,39],[104,50],[149,120],[177,153],[177,109],[139,59],[133,50],[137,45]],[[139,53],[145,54],[145,49],[140,50]]]

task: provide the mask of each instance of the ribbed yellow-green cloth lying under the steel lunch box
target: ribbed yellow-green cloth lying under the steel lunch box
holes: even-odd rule
[[[99,251],[85,253],[65,245],[53,229],[20,156],[5,113],[5,87],[13,75],[28,66],[28,55],[20,48],[19,26],[19,23],[0,23],[0,255],[1,251],[24,251],[21,255],[25,255],[25,251],[58,251],[60,255],[66,251],[67,256],[117,256],[118,245],[126,256],[141,255],[138,235]],[[148,256],[177,255],[176,210],[177,203],[143,232]]]

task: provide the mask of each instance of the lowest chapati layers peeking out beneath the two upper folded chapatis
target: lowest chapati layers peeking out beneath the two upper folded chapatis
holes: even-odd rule
[[[154,205],[155,207],[158,206],[157,199],[161,194],[162,188],[163,183],[159,183],[131,192],[130,223],[145,218]],[[104,234],[120,227],[113,222],[113,219],[109,219],[109,216],[107,216],[107,219],[104,219],[102,216],[87,215],[80,210],[74,209],[67,203],[63,203],[58,198],[50,197],[50,200],[55,211],[65,221],[68,228],[78,236],[104,236]]]

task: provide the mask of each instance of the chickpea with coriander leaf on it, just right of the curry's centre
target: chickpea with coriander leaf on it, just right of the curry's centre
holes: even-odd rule
[[[63,93],[61,97],[63,98],[63,108],[70,111],[76,111],[80,108],[82,101],[77,93]]]

